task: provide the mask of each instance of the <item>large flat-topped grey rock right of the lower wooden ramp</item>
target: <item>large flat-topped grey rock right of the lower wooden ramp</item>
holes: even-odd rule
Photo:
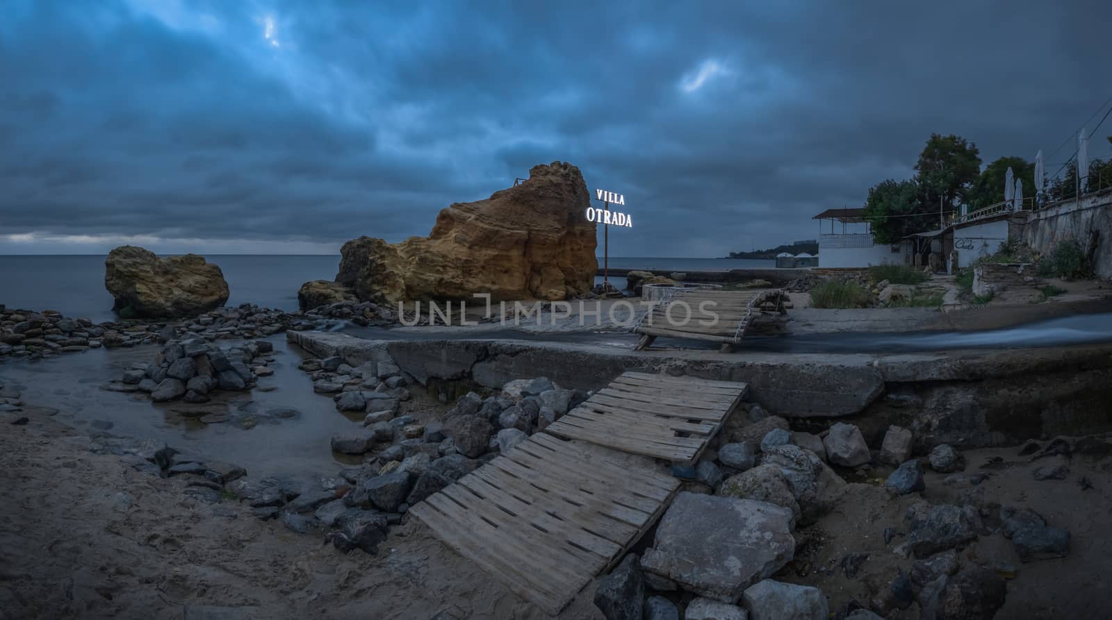
[[[736,601],[792,560],[791,522],[791,510],[771,503],[681,492],[642,568],[697,594]]]

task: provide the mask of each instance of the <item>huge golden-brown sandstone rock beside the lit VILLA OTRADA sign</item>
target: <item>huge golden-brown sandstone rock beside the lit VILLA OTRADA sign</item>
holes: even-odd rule
[[[560,300],[590,290],[598,263],[587,186],[575,166],[535,166],[524,183],[440,211],[428,237],[360,237],[336,281],[360,300]]]

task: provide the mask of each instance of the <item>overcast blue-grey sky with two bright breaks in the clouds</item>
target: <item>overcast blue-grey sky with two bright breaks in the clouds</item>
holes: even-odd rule
[[[1112,97],[1108,0],[355,4],[6,0],[0,253],[337,253],[564,160],[612,256],[718,257],[931,132],[1053,172]]]

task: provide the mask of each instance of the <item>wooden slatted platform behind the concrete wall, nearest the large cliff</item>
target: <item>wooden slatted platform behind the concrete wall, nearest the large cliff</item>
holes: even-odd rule
[[[656,337],[664,336],[719,342],[723,351],[732,351],[757,317],[763,312],[786,313],[786,302],[787,293],[780,289],[678,289],[649,309],[634,327],[633,331],[642,334],[634,349],[645,349]]]

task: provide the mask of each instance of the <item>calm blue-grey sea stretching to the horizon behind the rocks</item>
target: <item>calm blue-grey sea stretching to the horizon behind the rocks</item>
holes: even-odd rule
[[[209,254],[228,281],[227,306],[257,303],[297,310],[297,289],[309,280],[331,280],[339,254]],[[610,257],[612,269],[728,271],[775,266],[773,260]],[[603,259],[598,259],[602,269]],[[595,282],[602,282],[602,276]],[[610,282],[625,288],[625,278]],[[105,290],[103,254],[0,256],[0,303],[26,310],[57,310],[95,322],[115,319],[112,296]]]

